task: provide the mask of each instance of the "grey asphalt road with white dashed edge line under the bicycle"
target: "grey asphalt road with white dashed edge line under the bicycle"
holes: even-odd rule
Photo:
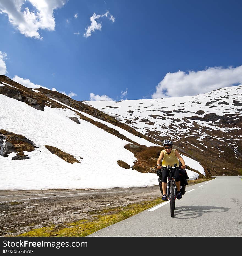
[[[89,236],[242,236],[241,176],[189,186],[175,203],[174,218],[165,202]]]

